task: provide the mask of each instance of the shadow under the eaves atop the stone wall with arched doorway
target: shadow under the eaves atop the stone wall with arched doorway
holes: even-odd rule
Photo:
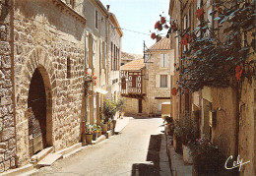
[[[73,35],[81,40],[85,25],[77,21],[69,13],[65,13],[49,1],[22,0],[15,2],[15,12],[19,12],[26,18],[34,20],[35,17],[47,19],[50,26]]]

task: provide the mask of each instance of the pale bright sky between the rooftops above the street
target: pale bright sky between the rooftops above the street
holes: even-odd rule
[[[143,54],[144,40],[148,47],[152,46],[156,42],[151,38],[151,32],[156,32],[154,29],[156,22],[160,21],[160,15],[168,17],[169,0],[100,1],[104,6],[109,4],[109,11],[116,16],[123,31],[122,51],[128,53]]]

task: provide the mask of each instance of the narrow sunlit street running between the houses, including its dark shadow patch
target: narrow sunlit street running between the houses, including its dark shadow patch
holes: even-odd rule
[[[161,118],[132,118],[119,135],[85,147],[32,175],[167,176],[167,160],[160,169],[162,130]]]

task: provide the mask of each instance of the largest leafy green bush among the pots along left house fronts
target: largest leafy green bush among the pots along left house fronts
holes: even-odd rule
[[[115,113],[116,113],[115,102],[113,100],[106,99],[103,102],[103,107],[102,107],[102,115],[103,115],[104,123],[108,122],[109,119],[112,119]]]

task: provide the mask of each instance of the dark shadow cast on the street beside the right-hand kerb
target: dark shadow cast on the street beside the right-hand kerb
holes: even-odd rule
[[[160,176],[160,142],[161,135],[151,136],[147,161],[152,163],[133,164],[131,176]]]

